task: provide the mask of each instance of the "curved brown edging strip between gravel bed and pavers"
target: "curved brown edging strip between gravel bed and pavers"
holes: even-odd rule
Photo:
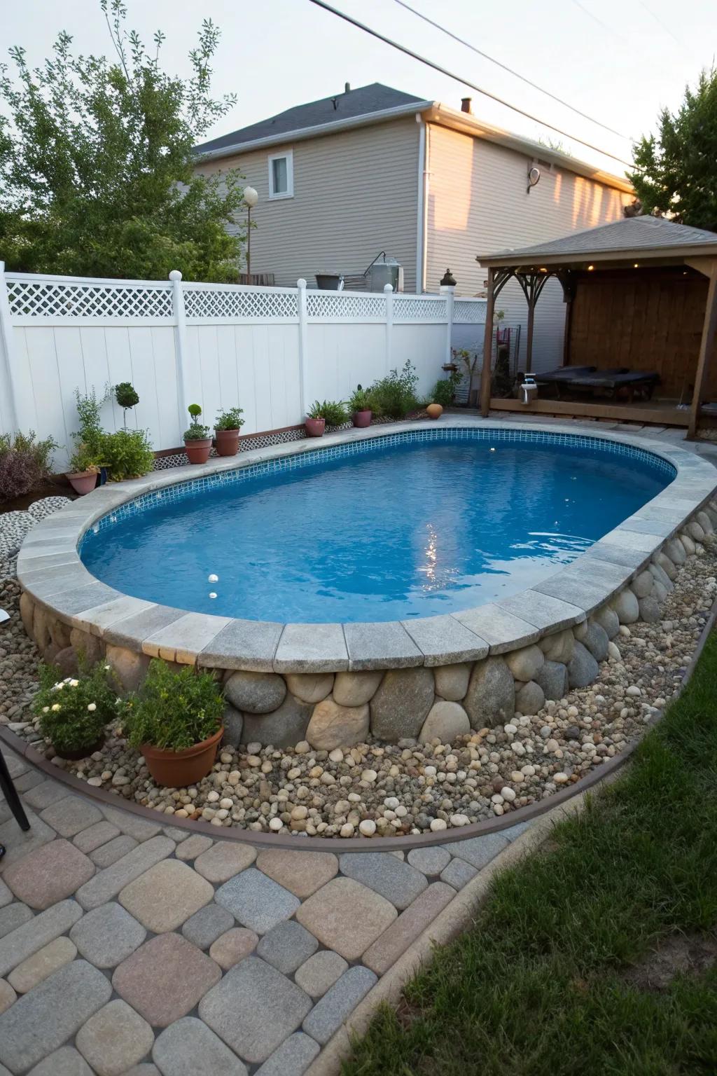
[[[715,600],[707,614],[704,627],[694,648],[694,653],[690,657],[679,688],[673,696],[673,700],[679,697],[689,682],[716,619],[717,600]],[[658,718],[650,718],[649,722],[647,722],[647,727],[656,725],[661,718],[662,714]],[[0,725],[0,742],[14,751],[15,754],[25,759],[35,769],[67,784],[74,792],[104,804],[105,807],[115,807],[118,810],[126,810],[130,815],[139,815],[141,818],[150,819],[156,824],[188,830],[190,833],[203,833],[207,837],[212,837],[213,840],[234,840],[244,845],[256,845],[258,848],[278,848],[290,851],[306,849],[312,852],[333,852],[335,854],[339,850],[350,852],[411,851],[413,848],[433,847],[435,845],[453,844],[458,840],[469,840],[472,837],[485,837],[491,833],[500,833],[501,830],[510,830],[521,822],[532,822],[533,819],[540,818],[541,815],[547,813],[554,807],[559,807],[574,796],[592,789],[596,784],[615,774],[630,759],[639,744],[642,742],[642,737],[630,744],[620,754],[615,755],[602,766],[591,770],[587,777],[575,781],[568,789],[556,792],[553,796],[541,799],[539,803],[529,804],[527,807],[519,807],[517,810],[510,811],[501,818],[487,819],[485,822],[473,822],[470,825],[455,826],[454,829],[442,830],[439,833],[412,834],[405,837],[304,837],[299,834],[259,833],[255,830],[244,830],[240,826],[217,826],[212,825],[211,822],[177,818],[175,815],[163,815],[153,807],[144,807],[142,804],[133,804],[127,799],[121,799],[114,792],[107,792],[105,789],[96,789],[94,785],[87,784],[86,781],[81,781],[78,777],[67,774],[58,766],[54,766],[52,762],[48,762],[47,759],[41,755],[27,740],[20,736],[16,736],[15,733],[11,732],[4,725]],[[160,822],[160,819],[163,819],[163,821]]]

